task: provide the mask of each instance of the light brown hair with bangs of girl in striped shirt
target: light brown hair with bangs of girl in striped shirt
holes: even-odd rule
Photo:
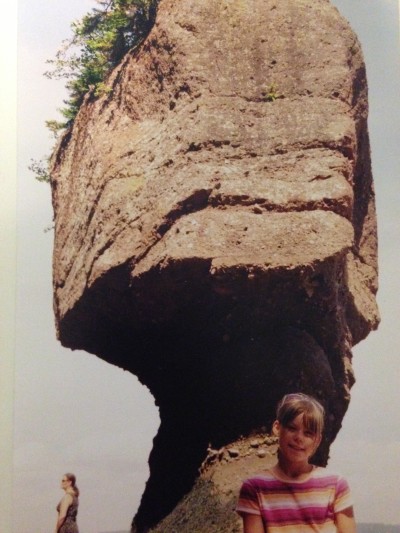
[[[300,414],[303,415],[304,427],[308,431],[322,434],[325,410],[315,398],[301,392],[286,394],[282,398],[276,410],[276,419],[286,427]]]

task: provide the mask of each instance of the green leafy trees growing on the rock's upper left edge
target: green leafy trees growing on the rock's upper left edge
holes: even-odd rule
[[[47,128],[57,137],[70,127],[91,90],[95,97],[112,91],[107,76],[125,54],[138,46],[155,22],[159,0],[95,0],[98,4],[71,24],[72,37],[62,42],[54,59],[47,61],[50,79],[65,79],[68,98],[59,111],[64,120],[48,120]],[[29,169],[38,181],[49,182],[48,161],[32,160]]]

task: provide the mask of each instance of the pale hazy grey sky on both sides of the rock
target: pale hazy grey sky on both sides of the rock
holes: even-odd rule
[[[331,466],[351,484],[360,522],[400,524],[399,36],[397,0],[334,0],[360,38],[369,84],[369,131],[377,195],[381,325],[355,347],[357,382]],[[61,347],[52,313],[50,188],[31,159],[49,154],[45,120],[59,118],[63,82],[43,76],[92,0],[19,0],[17,270],[13,533],[54,529],[65,472],[81,489],[84,533],[128,530],[148,477],[159,425],[135,376]]]

